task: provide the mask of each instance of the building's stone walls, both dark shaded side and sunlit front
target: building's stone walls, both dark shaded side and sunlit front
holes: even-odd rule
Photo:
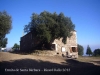
[[[78,56],[78,52],[77,52],[77,35],[76,35],[76,31],[72,32],[73,35],[70,38],[67,38],[67,43],[64,44],[62,43],[62,38],[61,39],[55,39],[54,42],[52,43],[53,46],[55,47],[55,52],[57,55],[66,55],[68,53],[68,55],[72,54],[72,55],[77,55]],[[21,41],[20,41],[20,50],[21,51],[29,51],[33,48],[35,48],[35,46],[37,46],[39,44],[39,39],[37,38],[32,38],[32,33],[28,33],[25,36],[21,37]],[[76,50],[76,52],[73,52],[72,47],[74,47]],[[55,53],[54,52],[54,53]]]

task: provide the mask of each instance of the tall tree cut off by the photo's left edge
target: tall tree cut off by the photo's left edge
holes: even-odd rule
[[[12,28],[11,16],[6,12],[0,12],[0,46],[5,47],[7,44],[6,34],[10,32]]]

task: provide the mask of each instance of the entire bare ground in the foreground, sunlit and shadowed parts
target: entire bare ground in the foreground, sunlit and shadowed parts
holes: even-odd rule
[[[0,75],[100,75],[100,57],[68,59],[61,56],[0,52]]]

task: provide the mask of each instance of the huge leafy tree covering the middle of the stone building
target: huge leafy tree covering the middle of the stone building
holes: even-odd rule
[[[63,38],[62,42],[66,44],[67,37],[71,37],[71,31],[74,31],[75,25],[71,19],[63,13],[50,13],[47,11],[40,14],[33,13],[31,22],[25,25],[25,32],[32,32],[43,44],[49,44],[55,39]]]

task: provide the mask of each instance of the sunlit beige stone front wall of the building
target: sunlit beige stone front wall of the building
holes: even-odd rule
[[[70,55],[70,53],[73,54],[72,52],[72,47],[75,47],[77,49],[77,35],[76,35],[76,31],[72,32],[73,35],[70,38],[67,38],[67,43],[64,44],[62,43],[62,38],[61,39],[55,39],[54,42],[52,44],[55,44],[55,50],[59,55],[66,55],[66,52],[68,52],[68,54]],[[76,53],[76,55],[78,54],[77,52],[74,52],[74,54]]]

